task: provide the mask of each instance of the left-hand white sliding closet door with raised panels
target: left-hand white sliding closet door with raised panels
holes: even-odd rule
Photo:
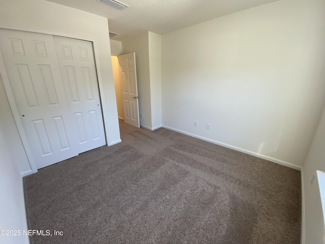
[[[0,50],[37,167],[77,156],[53,37],[0,29]]]

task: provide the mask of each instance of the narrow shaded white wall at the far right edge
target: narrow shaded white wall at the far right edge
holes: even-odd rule
[[[303,166],[305,203],[305,242],[325,243],[325,226],[317,178],[311,185],[316,170],[325,171],[325,107]]]

